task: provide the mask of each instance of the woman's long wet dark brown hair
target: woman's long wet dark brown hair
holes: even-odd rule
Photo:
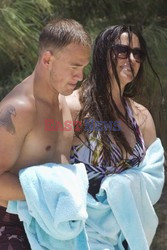
[[[148,53],[146,42],[135,27],[131,25],[116,25],[106,28],[96,38],[93,49],[92,57],[92,69],[89,78],[82,84],[80,91],[80,101],[82,103],[82,110],[79,113],[79,121],[83,126],[76,135],[80,137],[81,133],[84,133],[89,147],[90,134],[92,131],[85,130],[85,121],[90,118],[94,121],[112,121],[115,122],[120,119],[125,123],[134,133],[136,141],[138,140],[137,131],[135,130],[126,109],[126,97],[135,97],[142,87],[143,81],[143,61],[140,63],[140,68],[133,80],[129,82],[123,95],[121,95],[120,79],[117,73],[117,58],[114,55],[114,45],[120,43],[121,34],[126,32],[128,34],[129,45],[132,39],[132,35],[136,35],[139,39],[140,49],[148,61],[151,69],[153,69]],[[124,107],[125,114],[123,114],[117,107],[114,98],[112,96],[112,80],[109,73],[109,65],[112,67],[112,72],[115,76],[116,82],[119,87],[120,99]],[[132,74],[133,68],[131,67]],[[133,155],[133,148],[130,146],[125,134],[121,130],[117,131],[94,131],[94,138],[99,138],[102,143],[102,155],[105,165],[113,165],[111,161],[111,143],[114,142],[122,152],[122,160],[128,158],[128,155]],[[90,147],[91,148],[91,147]],[[124,153],[126,152],[126,157]],[[135,155],[135,157],[137,157]],[[138,160],[140,163],[140,159]],[[97,163],[94,162],[94,165]]]

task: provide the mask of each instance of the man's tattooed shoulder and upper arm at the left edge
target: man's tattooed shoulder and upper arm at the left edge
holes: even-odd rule
[[[26,136],[33,128],[33,106],[28,96],[19,92],[10,92],[0,103],[0,156],[3,156],[0,173],[13,167]]]

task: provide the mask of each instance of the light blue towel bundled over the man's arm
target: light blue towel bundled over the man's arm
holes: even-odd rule
[[[26,202],[10,201],[7,211],[23,221],[32,250],[88,250],[85,166],[48,163],[19,178]]]

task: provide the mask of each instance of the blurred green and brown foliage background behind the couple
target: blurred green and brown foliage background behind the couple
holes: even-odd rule
[[[38,58],[40,30],[50,19],[57,17],[79,21],[90,32],[92,40],[110,25],[128,23],[138,26],[161,82],[146,67],[143,91],[136,100],[153,115],[157,135],[167,152],[166,0],[0,0],[0,100],[33,71]],[[151,250],[165,250],[167,184],[155,208],[160,223]]]

